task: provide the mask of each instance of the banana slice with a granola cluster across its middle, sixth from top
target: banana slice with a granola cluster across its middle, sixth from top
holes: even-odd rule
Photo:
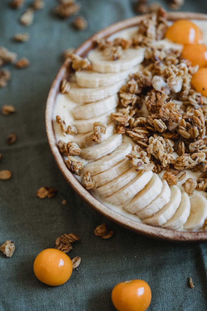
[[[76,142],[81,148],[89,146],[88,143],[88,137],[90,135],[92,135],[93,132],[88,132],[88,133],[84,133],[84,134],[77,134],[75,136],[73,136],[73,138],[71,139],[71,141]],[[110,136],[112,136],[114,134],[114,124],[110,123],[108,124],[107,128],[106,128],[106,133],[102,134],[101,136],[101,142],[107,138],[109,138]],[[95,145],[96,143],[91,141],[90,145]]]

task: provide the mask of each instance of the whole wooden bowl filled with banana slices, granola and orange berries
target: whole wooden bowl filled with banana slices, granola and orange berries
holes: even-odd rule
[[[114,24],[66,59],[46,129],[71,187],[116,223],[159,239],[207,240],[207,16]]]

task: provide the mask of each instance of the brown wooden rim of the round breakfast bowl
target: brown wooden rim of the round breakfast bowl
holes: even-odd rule
[[[92,42],[97,39],[106,38],[119,30],[123,30],[129,27],[137,26],[137,24],[144,18],[149,17],[149,15],[135,16],[133,18],[120,21],[113,24],[93,35],[87,41],[85,41],[75,53],[80,56],[85,56],[89,50],[92,49]],[[190,13],[190,12],[171,12],[168,13],[168,19],[170,21],[175,21],[178,19],[197,19],[197,20],[207,20],[206,14]],[[61,156],[57,141],[52,125],[52,111],[56,101],[56,96],[60,90],[61,80],[67,78],[70,72],[69,59],[65,60],[65,63],[61,66],[55,80],[52,83],[46,104],[45,122],[46,122],[46,132],[47,138],[50,145],[50,149],[54,156],[54,159],[70,186],[79,194],[79,196],[85,200],[89,205],[91,205],[95,210],[104,216],[108,217],[115,223],[122,225],[126,229],[132,230],[139,234],[156,238],[160,240],[171,240],[171,241],[207,241],[207,232],[193,232],[193,231],[175,231],[167,230],[159,227],[153,227],[150,225],[138,223],[135,220],[131,220],[126,216],[120,215],[119,213],[106,207],[103,203],[99,202],[95,197],[92,196],[79,181],[75,178],[69,169],[66,167],[63,157]]]

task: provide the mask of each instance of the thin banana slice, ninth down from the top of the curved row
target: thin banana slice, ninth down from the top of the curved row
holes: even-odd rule
[[[129,160],[124,159],[123,161],[112,166],[110,169],[107,169],[100,174],[92,176],[92,179],[97,183],[97,186],[99,187],[123,174],[125,171],[130,169],[130,166],[131,164]]]

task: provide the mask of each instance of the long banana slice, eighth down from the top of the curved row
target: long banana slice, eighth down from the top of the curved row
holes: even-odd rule
[[[86,172],[90,172],[91,176],[99,174],[124,160],[126,155],[128,155],[131,150],[132,145],[130,143],[123,143],[111,154],[104,156],[100,160],[85,165],[82,173],[84,175]]]

